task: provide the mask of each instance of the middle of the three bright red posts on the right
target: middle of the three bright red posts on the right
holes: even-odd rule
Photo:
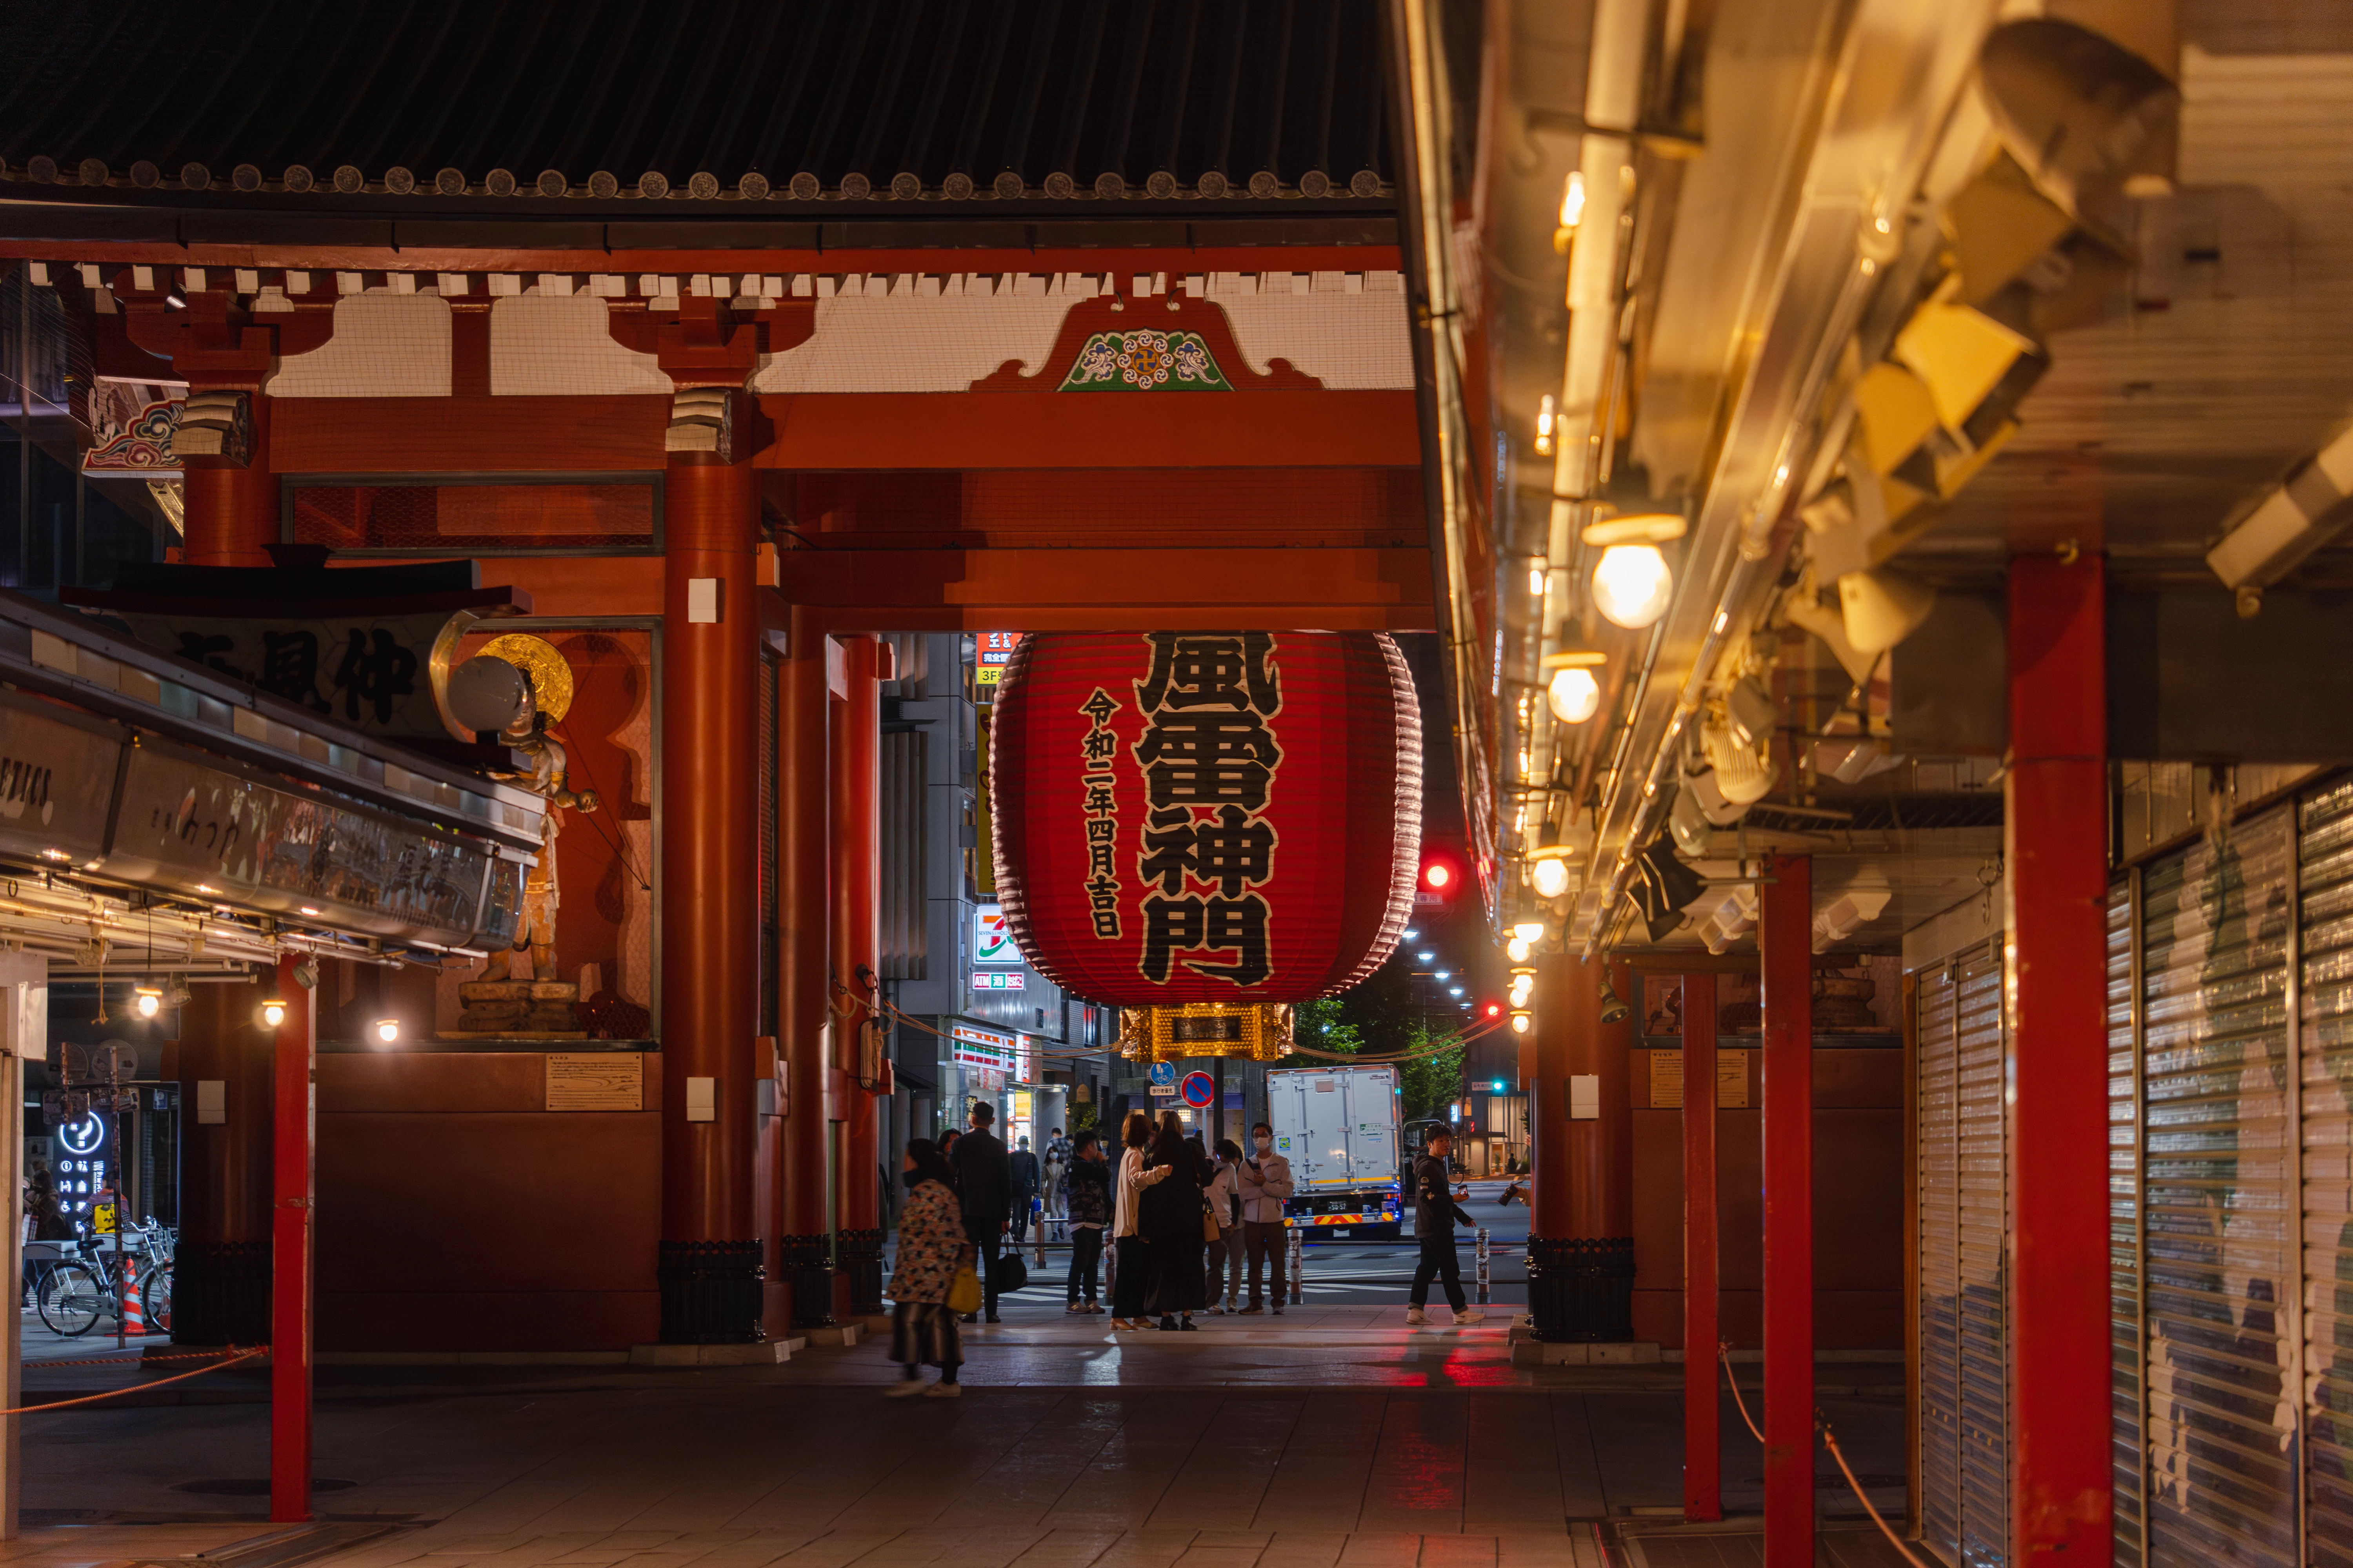
[[[1814,1568],[1814,863],[1767,858],[1758,905],[1765,966],[1765,1568]]]

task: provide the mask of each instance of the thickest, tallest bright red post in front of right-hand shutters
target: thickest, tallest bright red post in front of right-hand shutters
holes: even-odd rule
[[[2104,557],[2009,562],[2012,1552],[2106,1563],[2108,691]],[[2045,1556],[2049,1554],[2049,1556]],[[2064,1554],[2064,1556],[2057,1556]]]

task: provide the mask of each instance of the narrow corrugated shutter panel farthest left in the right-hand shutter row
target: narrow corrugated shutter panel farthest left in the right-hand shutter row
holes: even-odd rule
[[[1920,973],[1920,1540],[1960,1561],[1960,1058],[1958,971]]]

